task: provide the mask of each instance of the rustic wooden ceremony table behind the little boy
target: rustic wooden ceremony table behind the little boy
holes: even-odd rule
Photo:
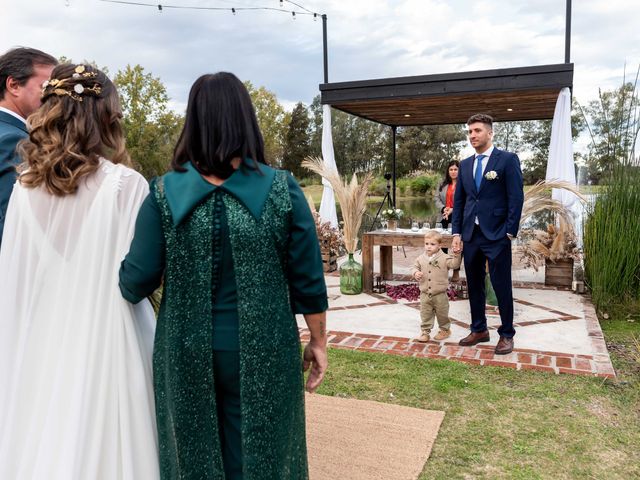
[[[425,231],[412,232],[409,229],[396,231],[374,230],[362,236],[362,287],[366,293],[373,291],[373,246],[380,245],[380,274],[385,280],[393,274],[393,247],[424,247]],[[451,246],[453,236],[442,234],[442,247]]]

